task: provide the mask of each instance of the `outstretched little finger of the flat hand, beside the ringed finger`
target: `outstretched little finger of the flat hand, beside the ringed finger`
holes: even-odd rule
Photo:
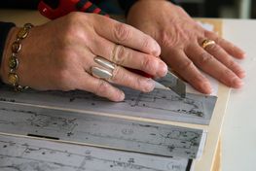
[[[242,59],[245,56],[245,52],[240,50],[237,46],[230,43],[229,41],[226,41],[223,38],[220,38],[216,33],[211,31],[205,31],[205,37],[208,39],[212,39],[218,44],[220,47],[222,47],[225,51],[227,51],[230,55]]]

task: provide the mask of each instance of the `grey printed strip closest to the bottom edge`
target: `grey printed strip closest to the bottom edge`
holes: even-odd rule
[[[185,171],[188,159],[0,135],[0,170]]]

